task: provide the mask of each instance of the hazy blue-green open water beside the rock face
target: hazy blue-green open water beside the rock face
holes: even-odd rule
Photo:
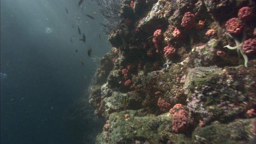
[[[110,46],[100,25],[104,18],[93,14],[98,13],[96,2],[84,1],[83,11],[77,4],[73,0],[0,1],[1,144],[91,144],[102,131],[102,120],[88,104],[86,90],[96,64],[87,50],[92,45],[92,55],[101,57]],[[78,25],[86,43],[70,42],[72,35],[82,37]]]

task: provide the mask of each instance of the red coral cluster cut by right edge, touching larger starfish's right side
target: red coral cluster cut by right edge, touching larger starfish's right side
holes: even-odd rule
[[[245,54],[255,54],[256,53],[256,38],[252,39],[248,39],[244,41],[243,47],[242,47],[242,51]]]

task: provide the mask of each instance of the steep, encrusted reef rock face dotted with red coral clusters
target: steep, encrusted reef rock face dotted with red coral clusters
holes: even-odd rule
[[[224,46],[255,38],[255,3],[133,2],[134,7],[130,0],[122,3],[121,28],[110,33],[113,48],[101,58],[89,88],[95,114],[107,119],[96,142],[250,141],[255,134],[255,119],[248,119],[255,117],[255,55],[246,55],[247,60],[240,56],[242,46],[233,48],[238,51]],[[241,20],[247,26],[246,39],[242,34],[229,37],[225,24],[237,18],[238,10],[244,6],[254,13],[252,18]],[[174,50],[172,56],[165,47]],[[244,66],[245,61],[248,67]],[[165,113],[169,110],[161,107],[159,99],[170,108],[178,104],[184,109]],[[179,127],[180,124],[183,125]],[[228,129],[230,126],[232,130]],[[229,134],[223,136],[219,131]]]

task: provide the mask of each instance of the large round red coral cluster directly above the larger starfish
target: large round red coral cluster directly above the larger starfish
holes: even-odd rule
[[[226,22],[226,30],[230,33],[230,34],[240,34],[245,27],[245,24],[239,20],[239,18],[231,18],[230,20],[228,20]]]

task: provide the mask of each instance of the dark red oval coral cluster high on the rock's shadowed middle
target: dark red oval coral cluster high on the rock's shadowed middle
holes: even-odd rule
[[[196,16],[194,14],[191,14],[191,12],[186,12],[182,18],[181,26],[183,26],[187,30],[190,30],[194,27],[195,22]]]

